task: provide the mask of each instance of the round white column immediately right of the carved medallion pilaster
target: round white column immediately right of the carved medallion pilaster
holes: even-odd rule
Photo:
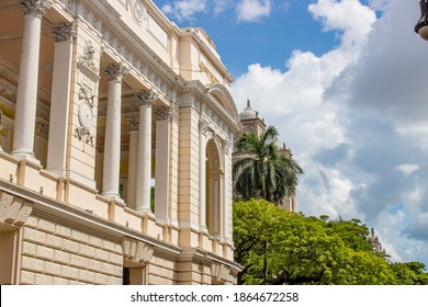
[[[122,64],[110,65],[105,69],[105,75],[109,80],[109,93],[102,195],[111,200],[120,198],[122,79],[126,73],[127,69]]]

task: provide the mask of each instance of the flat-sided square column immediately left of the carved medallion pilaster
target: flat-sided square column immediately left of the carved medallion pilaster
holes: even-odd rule
[[[53,27],[55,41],[54,76],[50,95],[50,129],[47,170],[66,177],[68,116],[71,87],[74,24]]]

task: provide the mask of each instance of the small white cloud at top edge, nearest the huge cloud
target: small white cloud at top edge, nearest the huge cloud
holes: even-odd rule
[[[239,21],[258,21],[270,15],[272,0],[240,0],[236,4]]]

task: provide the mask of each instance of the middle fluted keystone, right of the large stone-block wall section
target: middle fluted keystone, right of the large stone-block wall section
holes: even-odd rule
[[[123,258],[134,263],[147,265],[155,252],[154,246],[124,237],[122,240]]]

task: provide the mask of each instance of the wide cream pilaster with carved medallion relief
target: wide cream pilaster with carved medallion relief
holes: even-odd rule
[[[66,178],[95,189],[101,36],[81,19],[76,19],[74,24]],[[63,34],[56,35],[63,36]],[[64,37],[67,38],[67,35]],[[60,44],[66,45],[66,42]]]

